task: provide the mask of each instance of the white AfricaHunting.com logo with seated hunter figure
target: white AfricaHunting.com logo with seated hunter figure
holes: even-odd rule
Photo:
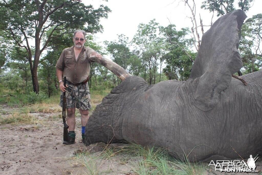
[[[258,173],[258,170],[255,170],[256,168],[256,160],[258,160],[258,155],[256,157],[252,157],[250,155],[250,158],[247,162],[244,160],[217,160],[216,163],[214,161],[211,161],[208,166],[214,165],[215,171],[220,172],[252,172],[252,173]]]

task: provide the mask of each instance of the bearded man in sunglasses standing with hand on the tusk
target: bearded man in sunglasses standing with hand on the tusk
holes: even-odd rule
[[[102,59],[93,49],[85,47],[85,31],[75,30],[73,34],[74,46],[63,50],[56,63],[56,75],[61,90],[60,106],[63,106],[63,92],[66,92],[67,125],[69,126],[69,143],[75,143],[75,108],[79,109],[82,125],[82,142],[85,143],[85,126],[89,119],[90,92],[88,75],[90,71],[90,56]],[[63,77],[66,76],[66,87]]]

